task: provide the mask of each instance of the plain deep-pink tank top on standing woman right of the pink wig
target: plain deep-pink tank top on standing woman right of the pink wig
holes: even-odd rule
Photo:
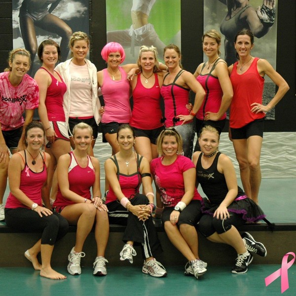
[[[155,83],[151,88],[143,86],[140,76],[133,90],[133,111],[130,125],[140,129],[156,129],[163,126],[160,109],[160,87],[158,76],[154,74]]]

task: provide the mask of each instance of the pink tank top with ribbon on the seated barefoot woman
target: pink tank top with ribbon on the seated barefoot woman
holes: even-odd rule
[[[21,182],[20,182],[20,190],[24,192],[34,203],[37,203],[39,206],[42,206],[41,199],[41,188],[46,182],[47,172],[45,165],[45,154],[43,154],[43,170],[40,173],[33,172],[28,164],[27,157],[25,151],[25,163],[24,169],[21,171]],[[22,157],[22,156],[21,156]],[[22,157],[23,158],[23,157]],[[5,208],[8,209],[16,209],[16,208],[27,208],[21,201],[19,201],[12,193],[10,192],[5,204]]]

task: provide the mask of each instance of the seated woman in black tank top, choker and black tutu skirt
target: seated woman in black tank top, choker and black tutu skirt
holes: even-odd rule
[[[198,229],[210,241],[232,246],[237,259],[231,272],[245,273],[253,260],[249,251],[262,257],[267,252],[264,245],[256,242],[248,232],[241,237],[236,227],[259,221],[265,215],[237,185],[230,158],[218,151],[219,139],[218,130],[206,125],[198,139],[201,151],[193,154],[197,184],[208,198],[202,207]]]

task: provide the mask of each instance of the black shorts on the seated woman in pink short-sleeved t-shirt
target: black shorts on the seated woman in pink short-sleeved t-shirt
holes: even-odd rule
[[[170,215],[174,211],[174,207],[164,208],[161,214],[162,225],[164,222],[170,221]],[[191,200],[191,202],[186,206],[186,208],[180,213],[178,225],[189,224],[195,226],[202,216],[201,212],[201,201]]]

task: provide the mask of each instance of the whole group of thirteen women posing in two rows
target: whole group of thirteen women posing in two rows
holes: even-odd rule
[[[10,186],[5,221],[24,231],[32,227],[42,230],[41,239],[25,252],[41,276],[66,278],[51,268],[50,258],[54,243],[67,233],[69,223],[77,225],[77,232],[68,256],[68,272],[81,273],[83,244],[95,225],[97,256],[93,274],[106,275],[109,222],[126,225],[120,260],[132,263],[134,246],[140,245],[142,271],[155,277],[166,276],[165,267],[154,257],[161,249],[151,219],[154,210],[156,216],[161,216],[173,245],[188,260],[186,275],[198,278],[207,271],[207,263],[198,255],[197,223],[209,240],[229,244],[236,250],[233,273],[248,270],[253,259],[249,251],[266,256],[262,243],[247,232],[240,236],[236,227],[264,217],[257,205],[262,118],[289,87],[266,60],[251,56],[254,36],[249,30],[237,33],[238,62],[228,69],[219,57],[219,33],[208,31],[202,42],[208,61],[199,65],[194,75],[182,69],[181,52],[174,44],[164,49],[165,65],[158,63],[153,46],[142,46],[137,64],[121,67],[124,51],[114,42],[103,48],[107,68],[97,73],[86,59],[89,38],[82,32],[70,38],[72,59],[56,68],[58,44],[52,40],[40,44],[42,66],[36,82],[26,74],[30,53],[24,49],[11,52],[10,68],[0,74],[1,96],[7,98],[0,108],[0,179],[6,184],[9,167]],[[139,73],[135,75],[135,71]],[[266,106],[262,105],[265,74],[278,86]],[[251,84],[254,87],[250,88]],[[104,108],[98,100],[98,87]],[[41,123],[31,122],[38,106],[38,88]],[[189,90],[195,93],[193,106],[188,104]],[[133,111],[129,105],[131,92]],[[237,186],[230,159],[218,151],[229,105],[231,138],[245,192]],[[198,145],[192,162],[195,116]],[[103,136],[112,148],[112,156],[105,162],[109,188],[106,204],[101,196],[99,161],[92,150],[101,117]],[[16,121],[14,125],[11,118]],[[41,152],[43,146],[45,152]],[[10,161],[7,147],[14,153]],[[5,190],[4,183],[1,188]],[[201,198],[195,183],[201,184],[208,200]],[[50,192],[56,197],[52,210]],[[41,264],[37,259],[40,252]]]

